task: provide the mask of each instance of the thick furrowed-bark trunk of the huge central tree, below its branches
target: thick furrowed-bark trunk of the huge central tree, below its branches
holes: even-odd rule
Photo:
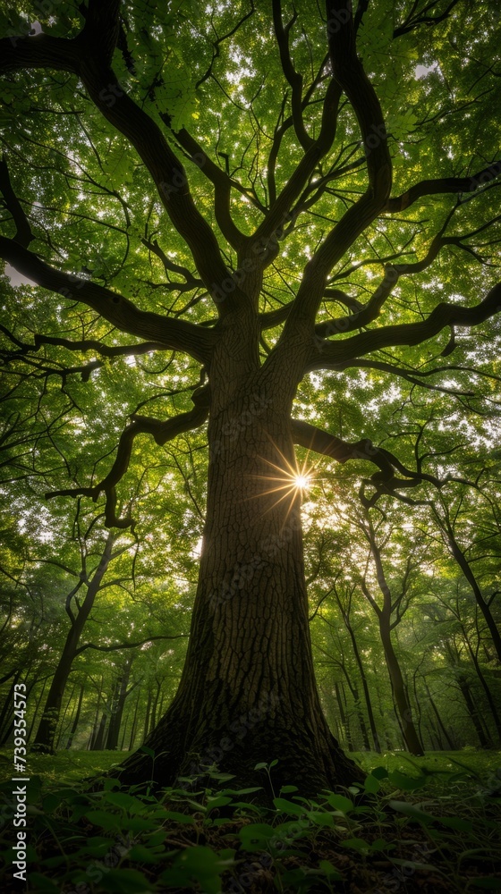
[[[256,781],[257,762],[278,759],[276,780],[310,794],[361,779],[327,727],[314,679],[303,570],[300,492],[288,410],[258,385],[213,408],[208,511],[183,676],[123,780],[200,775],[216,763]],[[284,468],[283,480],[276,467]],[[267,493],[274,489],[274,493]],[[281,499],[283,498],[284,499]]]

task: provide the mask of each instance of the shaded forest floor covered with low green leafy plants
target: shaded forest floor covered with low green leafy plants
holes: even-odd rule
[[[501,891],[499,752],[357,753],[368,773],[363,802],[355,787],[306,801],[291,780],[269,809],[252,799],[258,787],[273,787],[273,762],[256,770],[255,789],[232,788],[214,772],[154,797],[114,780],[124,754],[30,755],[25,884],[13,878],[12,847],[24,827],[14,825],[12,752],[0,752],[1,890]],[[96,773],[108,777],[89,792],[85,780]]]

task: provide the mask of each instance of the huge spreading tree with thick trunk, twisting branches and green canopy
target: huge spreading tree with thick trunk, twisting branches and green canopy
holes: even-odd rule
[[[278,757],[279,779],[304,792],[350,783],[360,774],[313,674],[308,469],[294,444],[372,470],[372,504],[405,499],[422,481],[442,485],[447,468],[427,471],[409,439],[398,456],[376,446],[380,421],[344,412],[352,376],[368,377],[364,406],[375,373],[379,392],[459,401],[472,363],[483,376],[470,393],[488,392],[490,355],[471,360],[472,327],[489,333],[501,303],[488,4],[474,18],[461,0],[361,2],[354,15],[344,0],[324,14],[237,0],[203,15],[190,2],[89,0],[9,15],[0,256],[38,285],[35,305],[52,305],[45,324],[39,309],[13,309],[7,361],[74,389],[68,352],[90,352],[76,372],[96,418],[117,410],[115,431],[126,411],[99,390],[106,364],[135,364],[142,382],[174,351],[171,384],[181,371],[191,383],[190,407],[160,400],[156,379],[168,417],[127,404],[104,477],[91,446],[87,483],[64,487],[60,473],[49,495],[104,493],[107,525],[131,527],[117,493],[126,505],[138,439],[161,447],[208,421],[198,592],[180,687],[147,739],[155,777],[216,761],[246,780]],[[332,404],[312,424],[298,398],[304,388],[314,401],[318,382]],[[150,774],[144,753],[124,764],[125,781]]]

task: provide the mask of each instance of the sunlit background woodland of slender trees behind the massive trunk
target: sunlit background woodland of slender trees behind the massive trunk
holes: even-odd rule
[[[169,480],[167,506],[153,492],[149,524],[141,521],[134,536],[110,534],[99,508],[79,505],[68,516],[66,506],[56,512],[35,502],[24,479],[11,492],[24,510],[17,526],[12,506],[2,519],[2,746],[13,741],[14,685],[22,679],[28,687],[33,743],[62,658],[68,679],[55,749],[138,747],[165,711],[183,668],[196,586],[202,446],[166,451],[157,474]],[[146,451],[142,460],[150,468]],[[303,502],[311,635],[322,704],[348,750],[405,749],[380,628],[385,596],[423,749],[499,746],[499,644],[488,625],[499,624],[496,473],[496,463],[490,476],[480,466],[476,488],[430,493],[410,517],[395,501],[364,507],[360,480],[328,463],[315,470]],[[109,564],[90,593],[80,639],[64,657],[106,549]]]

